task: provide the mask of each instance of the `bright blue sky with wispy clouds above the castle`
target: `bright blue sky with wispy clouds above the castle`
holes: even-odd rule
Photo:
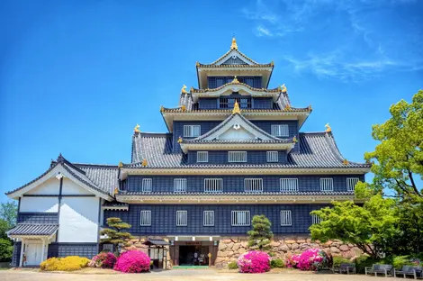
[[[313,107],[349,160],[374,123],[423,88],[423,1],[1,1],[0,201],[61,152],[130,161],[135,124],[166,131],[161,104],[197,86],[195,62],[238,48],[275,61],[270,87]]]

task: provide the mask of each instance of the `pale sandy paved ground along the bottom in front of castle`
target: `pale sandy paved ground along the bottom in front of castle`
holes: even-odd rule
[[[192,279],[192,280],[188,280]],[[67,274],[67,273],[40,273],[26,270],[1,270],[1,281],[380,281],[387,280],[383,277],[370,276],[347,276],[338,274],[310,274],[297,271],[283,271],[279,273],[266,274],[239,274],[236,272],[221,272],[213,269],[191,269],[191,270],[168,270],[163,272],[152,272],[145,274]],[[388,280],[394,280],[389,278]],[[400,280],[400,279],[398,279]],[[403,279],[402,279],[403,280]]]

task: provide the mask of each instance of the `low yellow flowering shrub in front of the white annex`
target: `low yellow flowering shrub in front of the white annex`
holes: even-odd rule
[[[65,258],[49,258],[40,263],[40,269],[44,271],[74,271],[87,267],[88,258],[69,256]]]

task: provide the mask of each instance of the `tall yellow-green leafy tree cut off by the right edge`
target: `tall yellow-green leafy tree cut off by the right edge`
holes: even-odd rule
[[[373,126],[372,136],[380,143],[365,153],[365,159],[374,162],[370,187],[381,194],[391,189],[402,199],[423,198],[417,181],[423,177],[423,90],[413,96],[411,104],[404,100],[392,104],[390,113],[389,120]]]

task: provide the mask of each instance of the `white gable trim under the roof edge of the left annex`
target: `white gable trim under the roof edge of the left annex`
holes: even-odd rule
[[[112,197],[108,195],[105,191],[95,186],[85,177],[85,175],[80,174],[78,170],[67,167],[64,163],[55,163],[53,164],[44,174],[40,177],[37,177],[30,183],[21,186],[14,191],[6,193],[9,198],[16,198],[24,195],[29,192],[31,189],[36,188],[37,186],[42,185],[49,178],[52,177],[67,177],[68,179],[75,182],[78,186],[85,188],[87,191],[91,192],[94,195],[102,197],[105,200],[111,201]]]

